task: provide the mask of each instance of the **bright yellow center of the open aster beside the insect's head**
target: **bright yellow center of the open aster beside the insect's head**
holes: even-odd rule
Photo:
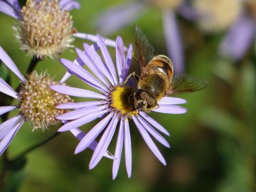
[[[134,114],[138,114],[134,110],[134,107],[129,103],[129,96],[133,95],[134,91],[131,87],[115,87],[111,92],[112,104],[111,107],[117,110],[120,114],[132,117]]]

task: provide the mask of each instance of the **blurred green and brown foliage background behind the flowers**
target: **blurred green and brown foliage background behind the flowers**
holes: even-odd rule
[[[75,28],[84,33],[98,33],[95,27],[97,16],[121,2],[80,1],[80,10],[71,11]],[[208,80],[208,87],[200,92],[177,96],[188,101],[183,105],[188,109],[186,114],[151,112],[151,117],[171,134],[171,137],[166,137],[171,149],[157,144],[167,165],[163,166],[156,159],[136,127],[131,127],[132,177],[127,178],[122,157],[119,174],[112,181],[112,161],[102,159],[95,169],[89,170],[92,151],[87,149],[75,155],[78,140],[70,132],[64,132],[48,144],[31,151],[26,156],[23,169],[9,171],[6,191],[256,191],[255,43],[240,60],[223,58],[218,48],[228,27],[206,33],[197,22],[179,14],[176,18],[185,52],[184,73]],[[14,18],[0,13],[0,46],[24,74],[30,58],[19,49],[19,43],[14,38],[12,26],[16,22]],[[112,39],[117,35],[122,36],[124,44],[128,46],[134,41],[134,23],[138,23],[146,33],[156,54],[167,54],[161,10],[155,6],[149,6],[144,15],[118,31],[101,35]],[[82,48],[82,42],[76,39],[74,44]],[[115,57],[114,49],[110,50]],[[75,50],[66,50],[60,58],[74,60],[76,56]],[[0,74],[9,71],[1,63],[0,70]],[[58,59],[43,60],[38,63],[36,70],[48,70],[55,80],[60,80],[65,73]],[[131,71],[139,73],[139,66],[133,63]],[[13,74],[10,80],[14,87],[18,85]],[[70,78],[67,84],[85,87],[75,77]],[[4,100],[3,94],[0,94],[0,100]],[[88,130],[96,123],[86,124],[81,129]],[[58,126],[51,126],[45,132],[32,132],[30,124],[23,125],[9,146],[9,157],[14,158],[28,147],[50,137],[57,129]],[[115,139],[110,146],[112,152]],[[0,170],[2,165],[3,157],[0,156]]]

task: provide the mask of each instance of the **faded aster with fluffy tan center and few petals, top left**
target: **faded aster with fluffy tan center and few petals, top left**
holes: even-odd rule
[[[90,41],[97,39],[87,33],[77,33],[69,13],[74,8],[80,8],[78,1],[27,0],[22,8],[17,0],[0,1],[0,11],[18,20],[14,31],[21,49],[40,59],[57,57],[72,47],[74,37]],[[114,46],[114,41],[107,40],[106,43]]]

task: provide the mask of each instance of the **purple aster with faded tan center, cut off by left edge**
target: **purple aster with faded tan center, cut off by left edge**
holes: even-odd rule
[[[46,129],[49,124],[58,123],[56,115],[63,114],[67,110],[58,110],[56,105],[70,102],[68,95],[62,95],[50,90],[50,85],[58,85],[53,82],[46,73],[38,75],[36,72],[24,78],[18,70],[13,60],[6,54],[0,46],[0,60],[9,68],[19,80],[21,80],[20,92],[16,92],[2,78],[0,78],[0,92],[9,95],[18,101],[18,105],[0,106],[0,116],[12,110],[19,110],[19,113],[0,124],[0,155],[9,146],[12,139],[21,128],[23,122],[29,121],[33,124],[33,129]],[[65,122],[64,122],[65,123]],[[85,136],[80,129],[70,130],[79,140]],[[97,142],[93,141],[89,148],[94,150]],[[112,155],[105,151],[105,156],[113,159]]]

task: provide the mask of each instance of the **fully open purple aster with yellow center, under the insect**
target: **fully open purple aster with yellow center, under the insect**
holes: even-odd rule
[[[94,75],[82,68],[82,64],[78,65],[78,63],[73,63],[70,60],[60,59],[60,62],[63,63],[70,73],[73,73],[80,80],[90,85],[95,91],[64,85],[51,86],[53,90],[62,94],[93,99],[85,102],[70,102],[59,105],[59,109],[75,110],[56,117],[57,119],[68,121],[68,123],[58,129],[58,132],[72,130],[100,117],[100,122],[95,127],[92,127],[85,137],[82,138],[75,149],[75,154],[87,149],[92,141],[102,133],[90,161],[89,168],[93,169],[109,147],[114,132],[118,132],[112,167],[113,179],[116,178],[119,170],[123,148],[127,175],[130,177],[132,174],[132,143],[129,120],[132,119],[142,138],[149,146],[149,149],[151,149],[162,164],[166,165],[164,157],[151,137],[154,137],[154,139],[164,146],[169,147],[169,143],[159,132],[167,136],[169,136],[169,133],[161,124],[149,117],[145,112],[134,110],[128,101],[129,95],[134,93],[134,82],[127,82],[129,66],[132,61],[132,45],[129,46],[126,55],[122,38],[117,37],[116,65],[114,65],[104,40],[99,35],[97,38],[103,58],[87,43],[83,44],[84,51],[76,48],[76,52],[80,58],[78,61],[84,63]],[[159,107],[154,108],[152,111],[182,114],[186,112],[186,109],[176,105],[185,102],[186,100],[175,97],[163,97],[158,102]]]

